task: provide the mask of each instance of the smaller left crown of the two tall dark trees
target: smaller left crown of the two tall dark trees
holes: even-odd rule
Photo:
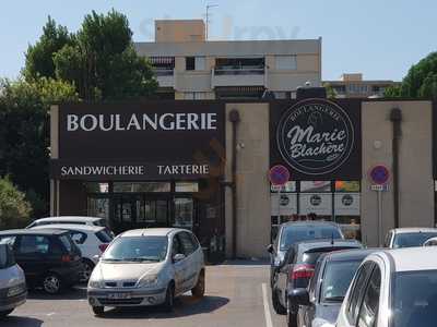
[[[55,78],[54,53],[73,41],[67,27],[57,25],[50,16],[43,27],[39,40],[28,46],[25,55],[26,61],[23,75],[26,80],[35,80],[39,76]]]

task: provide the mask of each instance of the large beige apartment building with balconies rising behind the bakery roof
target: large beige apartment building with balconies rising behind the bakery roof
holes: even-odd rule
[[[155,41],[137,43],[163,99],[293,98],[321,85],[321,38],[210,41],[202,20],[156,21]]]

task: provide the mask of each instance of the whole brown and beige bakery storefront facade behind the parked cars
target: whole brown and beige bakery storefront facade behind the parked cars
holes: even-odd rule
[[[192,229],[216,259],[263,257],[279,223],[308,214],[375,246],[394,226],[435,226],[436,110],[314,98],[54,106],[51,215],[104,217],[116,232]],[[269,181],[277,165],[291,172],[281,189]],[[380,192],[376,166],[390,174]]]

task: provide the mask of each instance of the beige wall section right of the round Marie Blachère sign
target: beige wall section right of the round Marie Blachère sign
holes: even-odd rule
[[[392,172],[390,110],[402,110],[400,141],[400,227],[434,226],[433,129],[429,101],[363,102],[363,241],[378,244],[377,193],[370,191],[368,171],[382,164]],[[382,193],[382,233],[394,226],[392,180]]]

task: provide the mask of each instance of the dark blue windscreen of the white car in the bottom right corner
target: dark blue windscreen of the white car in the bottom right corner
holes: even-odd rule
[[[395,272],[391,327],[435,327],[437,270]]]

